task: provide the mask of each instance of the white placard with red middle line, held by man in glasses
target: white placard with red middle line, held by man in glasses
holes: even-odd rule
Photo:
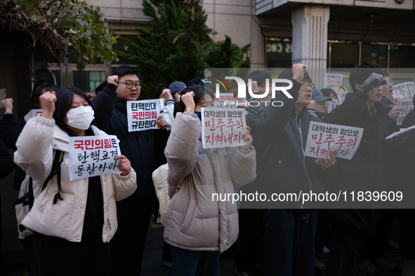
[[[164,108],[163,99],[127,102],[129,132],[157,129],[157,117]]]

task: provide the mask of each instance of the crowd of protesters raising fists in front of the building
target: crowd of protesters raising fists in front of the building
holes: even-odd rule
[[[244,202],[207,198],[242,186],[253,193],[258,187],[264,193],[275,187],[282,193],[311,187],[322,193],[329,186],[372,191],[413,182],[415,131],[386,142],[399,130],[400,114],[386,70],[370,62],[352,69],[353,92],[331,112],[329,102],[338,103],[344,86],[317,89],[304,64],[278,78],[292,82],[291,97],[277,92],[272,98],[265,71],[246,76],[254,94],[269,91],[258,105],[249,104],[258,98],[239,98],[232,88],[237,108],[246,109],[246,144],[218,149],[204,149],[202,143],[202,108],[214,107],[215,100],[214,85],[204,77],[159,88],[156,99],[163,99],[164,108],[156,130],[129,132],[127,102],[139,99],[143,85],[129,66],[114,69],[88,95],[39,81],[32,108],[42,111],[34,118],[29,112],[15,120],[13,99],[4,99],[0,178],[16,167],[13,188],[29,183],[32,190],[30,212],[19,226],[32,231],[20,240],[32,275],[141,275],[150,218],[159,209],[152,172],[166,163],[171,201],[160,257],[172,275],[219,275],[220,254],[230,249],[239,276],[378,275],[380,270],[415,275],[415,209],[317,209],[301,202],[292,202],[290,209],[251,209]],[[305,156],[313,122],[362,127],[353,158]],[[415,109],[402,127],[414,124]],[[121,173],[70,181],[69,138],[107,134],[119,139]],[[14,162],[8,149],[15,151]],[[402,267],[385,255],[396,223]],[[0,232],[0,247],[1,238]],[[329,254],[327,263],[320,259],[323,252]]]

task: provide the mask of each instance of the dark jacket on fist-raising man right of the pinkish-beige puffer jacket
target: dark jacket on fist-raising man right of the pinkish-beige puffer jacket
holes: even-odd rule
[[[262,153],[259,173],[263,177],[262,182],[265,183],[268,196],[272,193],[322,193],[322,177],[331,177],[334,171],[334,167],[322,170],[320,165],[315,164],[316,158],[304,156],[310,122],[320,122],[320,119],[310,114],[306,107],[296,114],[294,104],[301,83],[294,79],[291,81],[293,88],[288,92],[294,99],[277,92],[271,102],[280,101],[284,103],[283,106],[269,104],[261,111],[256,122]],[[317,208],[315,204],[303,205],[301,200],[285,203],[293,208]],[[279,202],[274,202],[272,207],[277,207],[278,204]]]

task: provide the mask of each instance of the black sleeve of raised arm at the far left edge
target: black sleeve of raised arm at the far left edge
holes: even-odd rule
[[[0,121],[0,134],[7,149],[16,149],[16,141],[25,124],[23,119],[15,120],[13,114],[4,114]]]

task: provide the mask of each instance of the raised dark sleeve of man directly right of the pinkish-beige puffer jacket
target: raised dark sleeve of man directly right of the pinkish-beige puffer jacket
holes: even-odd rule
[[[293,97],[290,99],[283,92],[277,91],[275,98],[271,99],[271,103],[259,114],[258,120],[256,120],[256,130],[258,131],[261,139],[269,140],[278,138],[284,131],[286,124],[288,123],[289,116],[293,111],[294,104],[298,99],[298,90],[301,88],[301,83],[291,78],[293,87],[288,90],[289,94]],[[272,106],[273,102],[282,102]]]

